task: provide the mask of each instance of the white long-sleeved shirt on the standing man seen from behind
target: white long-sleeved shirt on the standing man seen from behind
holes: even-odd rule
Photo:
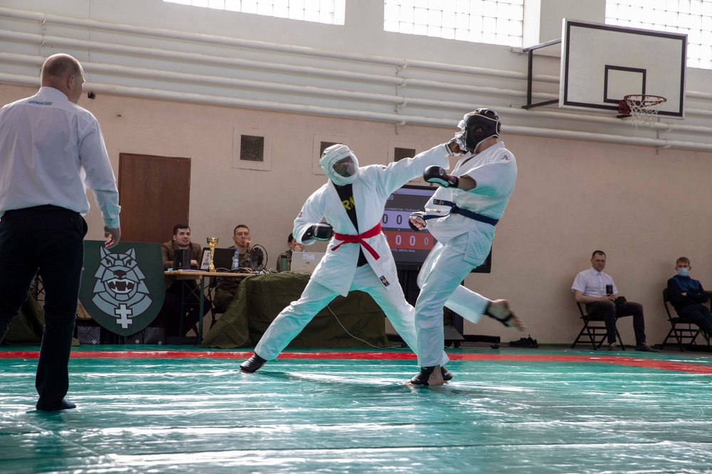
[[[116,180],[91,112],[53,87],[0,109],[0,217],[38,205],[84,215],[86,188],[94,191],[104,224],[119,227]]]

